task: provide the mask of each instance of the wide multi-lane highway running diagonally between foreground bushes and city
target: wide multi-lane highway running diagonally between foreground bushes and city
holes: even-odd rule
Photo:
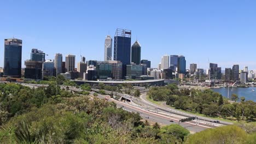
[[[40,84],[31,84],[31,83],[20,83],[21,85],[24,86],[28,86],[28,87],[42,87],[42,86],[48,86],[48,85],[40,85]],[[61,86],[61,88],[66,88],[66,86]],[[71,91],[75,91],[75,92],[80,92],[83,91],[80,88],[75,88],[72,86],[69,86],[69,90]],[[98,91],[98,89],[92,89],[92,91]],[[112,92],[110,91],[105,91],[107,94],[110,94]],[[92,95],[94,92],[90,92],[90,94]],[[132,101],[135,101],[135,103],[129,104],[129,103],[125,103],[122,101],[118,101],[115,99],[112,99],[109,97],[109,95],[101,95],[98,94],[98,98],[102,98],[105,99],[106,97],[108,98],[108,101],[113,101],[115,104],[117,104],[117,107],[121,107],[122,109],[126,110],[126,111],[130,111],[130,112],[138,112],[139,115],[143,118],[143,119],[147,119],[148,121],[151,122],[157,122],[160,125],[169,125],[169,124],[178,124],[178,121],[181,118],[184,117],[180,117],[178,115],[174,115],[173,113],[169,113],[163,115],[162,113],[164,111],[159,110],[159,106],[158,105],[154,105],[154,104],[150,104],[148,101],[145,101],[144,99],[140,99],[140,98],[135,98],[132,97],[131,95],[127,95],[127,94],[121,94],[121,93],[117,93],[118,95],[125,97],[125,98],[129,98]],[[165,112],[166,113],[166,112]],[[173,121],[173,122],[170,122]],[[210,125],[196,125],[195,122],[184,122],[184,123],[180,123],[182,125],[182,127],[187,128],[189,131],[193,131],[193,132],[198,132],[198,131],[202,131],[206,128],[212,128],[210,127]]]

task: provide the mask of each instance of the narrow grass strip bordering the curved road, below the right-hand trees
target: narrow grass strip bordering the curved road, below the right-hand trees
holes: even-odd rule
[[[156,105],[162,105],[163,102],[165,101],[155,101],[151,98],[148,97],[148,95],[146,96],[146,99],[148,101],[150,101],[151,103],[154,103]],[[175,109],[175,107],[173,106],[170,106],[170,105],[166,105],[167,107],[170,107],[172,109]],[[226,118],[220,118],[220,117],[208,117],[206,115],[203,115],[201,113],[198,113],[198,112],[190,112],[190,111],[185,111],[185,110],[180,110],[180,109],[175,109],[175,110],[178,110],[178,111],[181,111],[181,112],[185,112],[185,113],[188,113],[188,114],[192,114],[192,115],[196,115],[196,116],[201,116],[201,117],[206,117],[206,118],[211,118],[211,119],[216,119],[218,121],[224,121],[224,122],[231,122],[231,123],[238,123],[237,121],[232,121],[232,120],[229,120],[229,119],[226,119]],[[231,119],[231,118],[230,118]],[[240,121],[242,122],[242,121]]]

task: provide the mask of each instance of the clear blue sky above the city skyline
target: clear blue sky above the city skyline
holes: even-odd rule
[[[1,1],[0,67],[4,39],[23,40],[22,67],[32,48],[103,60],[104,38],[116,28],[132,30],[142,59],[157,67],[162,55],[184,55],[187,68],[210,62],[222,69],[256,69],[256,1]],[[63,59],[65,61],[65,58]]]

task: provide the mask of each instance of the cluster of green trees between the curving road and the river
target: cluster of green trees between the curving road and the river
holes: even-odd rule
[[[241,103],[230,103],[223,99],[219,93],[211,89],[178,89],[174,84],[165,87],[153,87],[148,92],[149,98],[155,101],[166,101],[167,105],[176,109],[190,112],[199,112],[206,116],[231,117],[239,121],[255,121],[256,103],[241,98]],[[237,95],[232,95],[232,100],[237,100]]]

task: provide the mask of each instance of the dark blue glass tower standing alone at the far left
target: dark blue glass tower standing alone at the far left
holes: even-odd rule
[[[21,77],[22,40],[4,39],[4,75]]]

